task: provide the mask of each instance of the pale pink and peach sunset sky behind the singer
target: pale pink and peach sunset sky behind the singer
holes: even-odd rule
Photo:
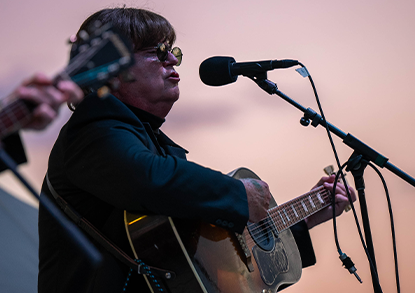
[[[209,87],[198,74],[200,63],[211,56],[233,56],[238,62],[297,59],[311,73],[329,122],[415,176],[415,2],[409,0],[2,0],[0,95],[35,72],[53,76],[67,63],[67,40],[82,21],[124,3],[160,13],[176,29],[176,45],[184,54],[177,69],[181,96],[162,129],[190,151],[189,160],[224,173],[248,167],[270,185],[278,203],[307,192],[324,175],[323,168],[335,164],[325,130],[301,126],[299,110],[247,78]],[[268,78],[304,107],[318,110],[310,83],[295,68],[269,72]],[[62,107],[46,131],[23,133],[29,164],[20,170],[38,190],[49,151],[69,115]],[[352,150],[338,138],[334,142],[344,163]],[[411,292],[415,189],[390,171],[381,172],[395,217],[401,289]],[[351,174],[347,178],[353,184]],[[381,285],[383,292],[396,292],[385,193],[370,168],[365,182]],[[0,186],[33,204],[7,172]],[[358,202],[355,206],[360,218]],[[373,291],[351,212],[339,218],[338,231],[342,250],[364,283],[342,268],[328,222],[310,231],[317,264],[284,292]]]

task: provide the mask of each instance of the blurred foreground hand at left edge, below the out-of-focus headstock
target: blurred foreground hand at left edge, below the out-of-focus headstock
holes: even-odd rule
[[[44,129],[59,112],[59,106],[66,102],[76,103],[83,98],[82,90],[72,81],[60,81],[56,87],[53,81],[42,73],[25,80],[15,91],[18,98],[34,103],[36,108],[26,129]]]

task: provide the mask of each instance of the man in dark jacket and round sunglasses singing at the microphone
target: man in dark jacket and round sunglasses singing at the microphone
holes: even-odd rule
[[[162,16],[132,9],[104,9],[90,16],[113,23],[134,47],[136,81],[106,99],[87,96],[62,128],[52,149],[48,178],[54,190],[110,240],[132,256],[123,211],[167,215],[221,225],[241,233],[247,221],[267,215],[271,194],[265,182],[236,180],[186,160],[186,151],[160,131],[179,99],[175,67],[180,49]],[[333,177],[322,178],[332,189]],[[44,193],[51,192],[44,182]],[[354,192],[351,191],[352,197]],[[345,188],[336,192],[337,211],[347,205]],[[331,217],[325,209],[293,229],[303,266],[315,262],[308,228]],[[42,208],[39,215],[39,292],[149,292],[141,276],[102,249],[104,264],[88,279],[88,265]],[[150,265],[150,264],[149,264]],[[127,285],[126,285],[127,283]]]

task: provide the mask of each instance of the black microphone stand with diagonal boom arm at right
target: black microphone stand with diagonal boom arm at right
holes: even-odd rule
[[[366,246],[368,249],[368,253],[370,256],[370,259],[372,261],[373,266],[370,266],[370,271],[372,275],[372,283],[375,293],[382,292],[380,285],[379,285],[379,279],[377,274],[377,268],[376,268],[376,260],[375,260],[375,253],[373,248],[373,241],[372,241],[372,234],[370,231],[370,224],[369,224],[369,216],[367,212],[367,205],[366,205],[366,198],[365,198],[365,184],[363,180],[363,173],[364,169],[366,168],[368,162],[373,162],[376,165],[378,165],[381,168],[386,168],[398,177],[405,180],[407,183],[411,184],[415,187],[415,179],[402,170],[398,169],[394,165],[392,165],[390,162],[388,162],[388,159],[381,155],[379,152],[374,150],[373,148],[369,147],[364,142],[360,141],[356,137],[354,137],[352,134],[341,131],[339,128],[334,126],[333,124],[325,121],[321,115],[317,114],[313,109],[311,108],[305,108],[296,101],[292,100],[290,97],[288,97],[286,94],[278,90],[278,87],[275,83],[272,81],[269,81],[267,79],[266,72],[262,72],[259,74],[256,74],[255,76],[247,76],[248,78],[252,79],[260,88],[262,88],[264,91],[269,93],[270,95],[276,94],[279,97],[283,98],[285,101],[299,109],[304,113],[304,116],[301,118],[300,123],[303,126],[308,126],[310,124],[314,127],[317,127],[318,125],[321,125],[323,127],[327,127],[330,132],[334,133],[341,139],[343,139],[343,143],[349,146],[354,150],[352,156],[349,158],[348,163],[348,169],[347,171],[351,171],[352,175],[354,176],[355,186],[356,190],[358,191],[359,195],[359,203],[360,203],[360,211],[362,215],[362,221],[363,221],[363,228],[365,232],[365,239],[366,239]]]

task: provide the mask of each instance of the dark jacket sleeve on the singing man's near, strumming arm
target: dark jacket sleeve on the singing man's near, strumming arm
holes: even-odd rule
[[[239,180],[149,150],[144,128],[100,121],[68,137],[65,170],[78,188],[128,211],[202,220],[241,233],[249,217]]]

